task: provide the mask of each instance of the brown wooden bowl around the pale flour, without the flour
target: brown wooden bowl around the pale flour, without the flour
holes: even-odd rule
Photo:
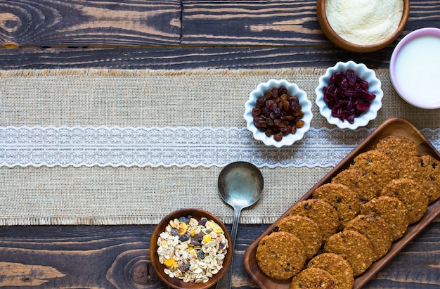
[[[332,29],[332,27],[328,23],[327,15],[325,14],[325,0],[316,1],[316,15],[318,17],[318,23],[319,25],[321,25],[321,29],[323,30],[325,36],[327,36],[328,39],[330,39],[330,41],[332,41],[334,44],[341,47],[342,49],[356,53],[368,53],[368,52],[378,51],[380,49],[384,49],[385,47],[389,46],[389,44],[392,44],[392,42],[396,40],[396,38],[399,37],[399,35],[402,33],[403,28],[405,27],[406,22],[408,21],[409,13],[410,13],[410,0],[403,0],[403,15],[399,23],[399,26],[397,27],[397,30],[391,36],[389,36],[387,39],[384,39],[383,41],[370,45],[359,45],[343,39],[342,37],[339,36],[339,34],[335,32],[335,30]]]

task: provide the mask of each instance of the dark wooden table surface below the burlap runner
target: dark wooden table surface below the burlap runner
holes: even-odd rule
[[[256,287],[242,259],[250,243],[267,227],[240,225],[233,288]],[[149,263],[153,229],[154,226],[0,227],[0,287],[167,288]],[[440,220],[436,219],[364,288],[439,288],[439,247]]]

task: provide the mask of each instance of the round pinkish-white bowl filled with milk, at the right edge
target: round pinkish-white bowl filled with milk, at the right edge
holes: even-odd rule
[[[418,108],[440,108],[439,70],[439,28],[422,28],[403,37],[389,62],[394,89]]]

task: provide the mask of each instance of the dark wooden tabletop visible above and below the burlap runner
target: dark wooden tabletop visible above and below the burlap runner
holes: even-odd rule
[[[411,1],[401,37],[422,27],[440,27],[440,0]],[[395,45],[368,54],[337,48],[310,0],[0,0],[3,70],[326,68],[339,60],[374,69],[388,67]],[[439,222],[365,288],[440,288]],[[257,287],[242,256],[267,226],[240,225],[233,288]],[[0,287],[167,288],[148,261],[153,228],[0,227]]]

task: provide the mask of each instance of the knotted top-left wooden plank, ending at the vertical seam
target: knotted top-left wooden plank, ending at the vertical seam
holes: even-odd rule
[[[179,0],[0,1],[0,46],[178,45]]]

